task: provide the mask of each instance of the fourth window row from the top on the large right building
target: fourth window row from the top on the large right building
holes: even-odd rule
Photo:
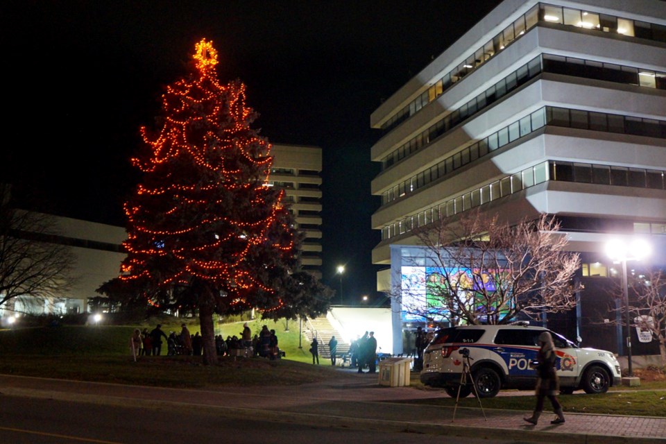
[[[588,174],[576,176],[574,168],[579,169],[579,171],[586,169]],[[565,173],[567,169],[569,173]],[[454,216],[479,205],[490,203],[493,200],[511,196],[511,194],[518,193],[547,180],[590,183],[590,177],[595,169],[605,170],[607,174],[605,176],[599,175],[599,182],[594,183],[641,188],[656,187],[656,183],[660,183],[662,189],[664,188],[664,171],[635,168],[617,169],[617,167],[610,165],[546,161],[518,173],[513,173],[511,176],[496,180],[484,187],[468,191],[461,196],[447,200],[417,214],[407,216],[401,221],[388,224],[382,228],[382,240],[391,239],[391,237],[409,232],[413,228],[422,227],[434,221]],[[615,172],[611,173],[611,171]],[[642,179],[639,176],[642,176]],[[660,177],[660,182],[656,179],[657,177]],[[577,178],[580,180],[577,180]]]

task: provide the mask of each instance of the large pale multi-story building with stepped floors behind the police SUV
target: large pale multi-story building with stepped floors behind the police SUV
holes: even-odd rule
[[[414,227],[476,207],[507,221],[554,215],[585,283],[577,310],[554,321],[622,352],[622,330],[592,334],[608,302],[595,279],[617,268],[610,235],[666,234],[665,1],[503,1],[370,121],[385,131],[372,147],[379,291]]]

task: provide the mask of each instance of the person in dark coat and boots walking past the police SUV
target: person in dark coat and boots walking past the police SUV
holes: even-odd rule
[[[561,424],[564,422],[564,413],[562,405],[557,400],[556,393],[559,390],[559,379],[555,369],[555,345],[553,336],[549,332],[542,332],[539,335],[539,352],[536,355],[536,407],[530,418],[523,418],[533,425],[539,420],[543,411],[543,400],[548,398],[553,406],[557,418],[552,420],[551,424]]]

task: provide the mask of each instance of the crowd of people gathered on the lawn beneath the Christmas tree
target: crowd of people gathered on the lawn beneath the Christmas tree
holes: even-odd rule
[[[130,337],[131,355],[135,361],[140,356],[160,356],[164,342],[167,343],[167,356],[203,354],[203,336],[199,332],[191,334],[187,325],[183,323],[178,334],[169,332],[167,335],[160,324],[150,331],[147,328],[135,329]],[[234,334],[223,339],[221,334],[216,335],[215,352],[218,356],[257,356],[269,359],[282,357],[275,330],[268,330],[264,325],[259,334],[252,336],[248,323],[243,325],[243,331],[239,332],[239,336]]]

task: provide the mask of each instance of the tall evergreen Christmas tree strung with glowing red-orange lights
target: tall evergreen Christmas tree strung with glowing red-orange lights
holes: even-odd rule
[[[217,63],[212,42],[196,44],[192,73],[162,96],[157,133],[142,128],[132,160],[142,182],[125,205],[128,255],[115,282],[155,309],[198,314],[205,364],[217,359],[215,313],[293,318],[330,300],[299,271],[301,237],[284,190],[269,186],[271,145],[250,128],[245,86],[221,84]]]

